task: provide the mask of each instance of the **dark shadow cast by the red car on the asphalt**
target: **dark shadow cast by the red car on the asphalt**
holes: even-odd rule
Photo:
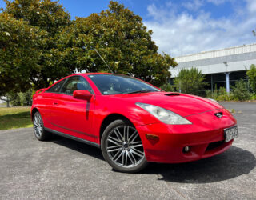
[[[54,136],[52,142],[82,154],[104,160],[101,150],[71,139]],[[107,163],[106,163],[107,165]],[[180,164],[150,163],[139,174],[159,174],[158,180],[166,182],[207,183],[219,182],[249,174],[256,166],[254,154],[236,146],[211,158]],[[113,170],[116,172],[116,170]],[[136,175],[136,174],[134,174]]]

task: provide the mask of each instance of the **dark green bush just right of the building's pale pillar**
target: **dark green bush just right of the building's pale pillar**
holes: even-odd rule
[[[246,101],[250,99],[250,92],[247,87],[247,83],[240,79],[236,81],[234,86],[231,86],[234,100]]]

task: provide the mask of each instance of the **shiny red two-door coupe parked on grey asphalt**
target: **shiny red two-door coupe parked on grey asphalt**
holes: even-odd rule
[[[236,120],[218,102],[122,74],[62,78],[34,94],[31,118],[38,140],[54,133],[98,146],[122,172],[214,156],[238,137]]]

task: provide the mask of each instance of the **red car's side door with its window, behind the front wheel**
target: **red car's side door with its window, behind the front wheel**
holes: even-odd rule
[[[66,78],[58,99],[54,102],[55,114],[51,116],[51,123],[55,130],[95,142],[94,96],[89,101],[77,99],[73,97],[74,90],[88,90],[94,94],[90,84],[82,76]]]

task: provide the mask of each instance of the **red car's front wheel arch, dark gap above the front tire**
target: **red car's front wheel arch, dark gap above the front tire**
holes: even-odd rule
[[[99,133],[99,142],[101,142],[102,139],[102,134],[104,132],[104,130],[106,129],[106,127],[111,123],[114,122],[115,120],[118,119],[122,119],[126,122],[129,122],[132,126],[134,126],[133,122],[130,121],[129,118],[126,118],[124,115],[122,114],[109,114],[108,116],[106,116],[106,118],[103,119],[102,124],[101,124],[101,128],[100,128],[100,133]],[[135,127],[135,126],[134,126]]]

